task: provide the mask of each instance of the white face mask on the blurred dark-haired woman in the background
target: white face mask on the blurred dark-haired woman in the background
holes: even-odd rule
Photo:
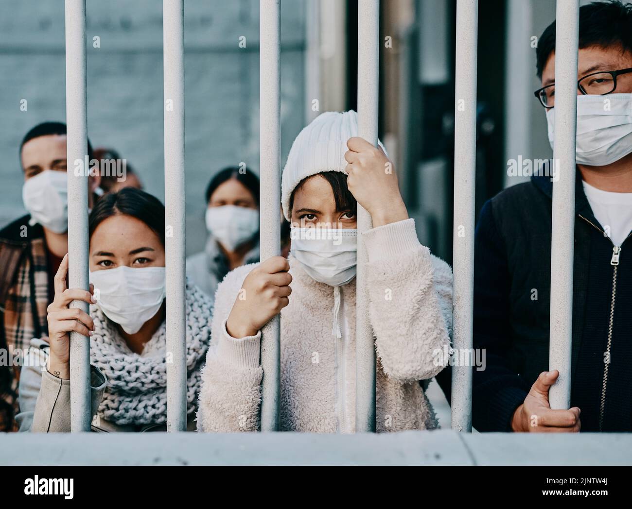
[[[259,211],[236,205],[209,207],[206,227],[224,248],[234,251],[259,231]]]

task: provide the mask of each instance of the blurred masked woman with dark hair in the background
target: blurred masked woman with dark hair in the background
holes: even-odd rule
[[[234,268],[259,261],[259,179],[249,169],[228,167],[206,189],[206,247],[186,260],[186,275],[211,299]]]

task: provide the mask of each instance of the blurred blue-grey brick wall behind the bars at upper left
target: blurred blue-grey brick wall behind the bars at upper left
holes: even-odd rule
[[[87,0],[88,135],[164,199],[162,1]],[[282,157],[304,119],[305,2],[281,13]],[[238,47],[246,37],[246,48]],[[100,48],[93,37],[100,37]],[[64,120],[64,1],[0,0],[0,224],[23,213],[18,145]],[[204,245],[204,189],[224,165],[258,171],[258,1],[185,1],[186,251]],[[20,100],[28,110],[20,111]],[[283,162],[283,161],[282,161]]]

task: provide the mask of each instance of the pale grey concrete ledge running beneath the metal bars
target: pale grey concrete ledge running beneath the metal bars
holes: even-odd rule
[[[0,465],[632,464],[632,434],[0,434]]]

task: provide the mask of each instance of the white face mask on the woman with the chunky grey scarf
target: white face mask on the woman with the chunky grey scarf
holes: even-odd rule
[[[101,311],[128,334],[137,333],[164,301],[164,267],[95,270],[90,272],[90,282]]]

